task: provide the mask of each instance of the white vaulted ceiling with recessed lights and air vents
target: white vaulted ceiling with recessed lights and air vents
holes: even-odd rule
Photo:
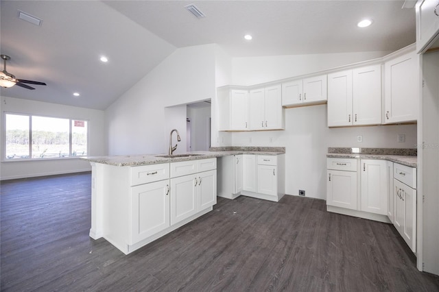
[[[403,2],[1,1],[8,72],[47,86],[0,93],[104,110],[178,47],[217,43],[232,57],[395,51],[415,41],[414,8]],[[206,17],[187,12],[189,3]],[[19,10],[42,25],[19,19]],[[373,24],[357,27],[366,17]]]

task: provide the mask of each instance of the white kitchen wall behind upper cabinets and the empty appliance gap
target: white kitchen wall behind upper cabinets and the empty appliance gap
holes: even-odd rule
[[[388,52],[337,53],[303,56],[234,58],[233,84],[252,85],[281,80],[380,58]],[[397,143],[397,134],[405,134],[405,143]],[[285,193],[326,198],[326,154],[328,147],[414,148],[416,125],[372,127],[327,127],[327,106],[285,109],[284,131],[233,132],[233,146],[285,147]],[[357,143],[357,135],[363,143]],[[251,142],[250,142],[251,141]],[[219,143],[219,146],[222,143]]]

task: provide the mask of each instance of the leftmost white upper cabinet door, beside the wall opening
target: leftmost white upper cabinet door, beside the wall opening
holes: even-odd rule
[[[248,130],[248,91],[230,92],[230,130]]]

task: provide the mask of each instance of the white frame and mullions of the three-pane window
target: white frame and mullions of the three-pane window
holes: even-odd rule
[[[17,116],[25,116],[29,117],[29,158],[7,158],[6,157],[6,135],[7,135],[7,125],[6,125],[6,115],[7,114],[14,114]],[[53,118],[53,119],[66,119],[69,120],[69,156],[64,157],[49,157],[49,158],[32,158],[32,117],[43,117],[43,118]],[[73,121],[86,121],[86,139],[87,139],[87,154],[86,155],[76,155],[72,156],[72,141],[73,141]],[[19,162],[19,161],[42,161],[42,160],[69,160],[69,159],[78,159],[81,157],[86,157],[90,153],[90,120],[88,119],[78,119],[78,118],[72,118],[72,117],[54,117],[49,116],[45,114],[26,114],[23,112],[3,112],[3,125],[2,125],[2,131],[3,131],[3,151],[1,154],[1,162]]]

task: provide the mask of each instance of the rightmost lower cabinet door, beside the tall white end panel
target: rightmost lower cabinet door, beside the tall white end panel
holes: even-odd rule
[[[403,238],[412,252],[416,252],[416,190],[405,186],[401,196],[404,204]]]

